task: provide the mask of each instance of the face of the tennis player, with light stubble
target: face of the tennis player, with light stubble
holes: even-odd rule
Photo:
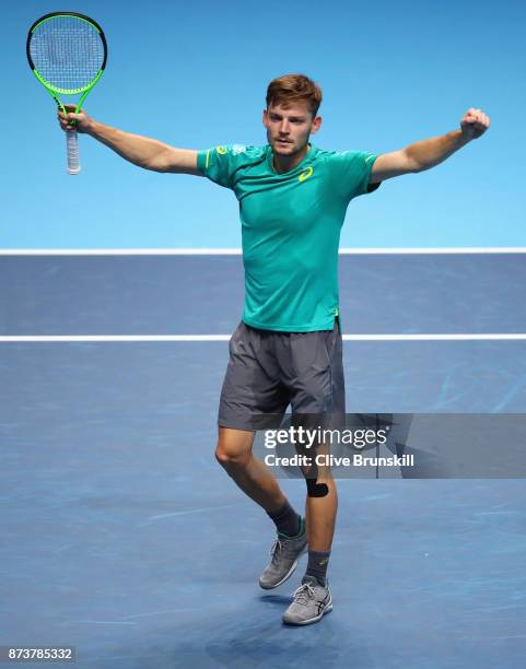
[[[316,132],[322,118],[313,118],[306,103],[297,102],[287,107],[269,105],[264,111],[264,126],[267,128],[267,140],[274,154],[293,156],[308,143],[308,137]]]

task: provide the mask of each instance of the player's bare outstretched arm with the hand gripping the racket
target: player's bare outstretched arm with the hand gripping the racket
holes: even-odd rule
[[[85,111],[73,114],[74,105],[66,105],[66,109],[67,117],[60,110],[58,113],[60,127],[66,132],[77,129],[79,132],[91,134],[125,160],[144,169],[203,176],[197,168],[197,151],[175,149],[148,137],[105,126],[90,118]],[[69,124],[71,119],[77,120],[74,126]]]

